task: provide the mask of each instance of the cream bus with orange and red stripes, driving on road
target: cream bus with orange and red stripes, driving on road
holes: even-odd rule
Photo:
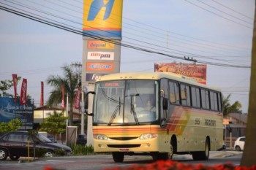
[[[102,76],[94,91],[86,93],[85,110],[93,116],[94,152],[111,152],[115,162],[123,162],[124,155],[151,155],[157,161],[173,154],[190,154],[194,160],[205,161],[210,150],[222,148],[221,91],[182,75],[127,72]]]

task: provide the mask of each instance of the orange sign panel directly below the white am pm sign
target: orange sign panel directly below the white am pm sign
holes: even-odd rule
[[[86,63],[87,71],[101,71],[101,72],[111,72],[114,69],[114,63]]]

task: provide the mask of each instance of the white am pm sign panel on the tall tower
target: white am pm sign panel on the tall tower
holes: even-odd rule
[[[113,61],[114,53],[113,52],[88,52],[88,60],[105,60]]]

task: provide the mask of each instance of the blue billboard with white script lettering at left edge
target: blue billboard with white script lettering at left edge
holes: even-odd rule
[[[0,97],[0,123],[19,118],[23,126],[20,129],[32,129],[34,123],[34,105],[27,101],[26,105],[14,102],[14,98]]]

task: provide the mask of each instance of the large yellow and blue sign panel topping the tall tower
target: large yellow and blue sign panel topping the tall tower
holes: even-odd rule
[[[122,0],[83,2],[83,36],[121,37]]]

